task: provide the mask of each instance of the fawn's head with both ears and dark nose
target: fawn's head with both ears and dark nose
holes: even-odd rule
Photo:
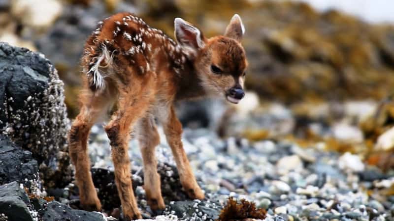
[[[224,35],[205,38],[202,32],[181,18],[175,19],[175,37],[193,61],[195,72],[207,94],[220,95],[237,104],[244,96],[248,66],[241,45],[245,28],[235,14]]]

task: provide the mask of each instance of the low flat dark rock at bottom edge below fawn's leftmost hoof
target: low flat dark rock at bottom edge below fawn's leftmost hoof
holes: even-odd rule
[[[105,221],[102,214],[87,212],[84,210],[74,210],[57,201],[48,203],[45,209],[44,221]]]

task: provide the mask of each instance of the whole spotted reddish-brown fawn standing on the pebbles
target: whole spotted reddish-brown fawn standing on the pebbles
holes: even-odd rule
[[[176,18],[176,42],[130,13],[99,22],[84,48],[81,110],[69,132],[69,153],[84,209],[101,209],[90,173],[87,140],[92,125],[113,105],[117,109],[105,131],[125,218],[141,218],[131,186],[128,148],[132,128],[142,153],[147,202],[153,210],[165,207],[155,157],[160,139],[155,117],[163,125],[184,190],[193,199],[204,198],[183,150],[182,125],[174,102],[220,95],[238,103],[244,97],[247,67],[240,44],[244,32],[238,15],[232,17],[223,36],[209,39]]]

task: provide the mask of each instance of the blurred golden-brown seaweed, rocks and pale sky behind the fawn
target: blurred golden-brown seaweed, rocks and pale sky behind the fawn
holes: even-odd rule
[[[217,99],[178,104],[183,124],[221,137],[285,138],[352,152],[389,168],[393,6],[391,0],[0,0],[0,41],[41,52],[55,64],[73,118],[79,58],[99,20],[130,11],[173,37],[173,19],[182,17],[210,37],[238,13],[250,63],[247,96],[238,106]]]

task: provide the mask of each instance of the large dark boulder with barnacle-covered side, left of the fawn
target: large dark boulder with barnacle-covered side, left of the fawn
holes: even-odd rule
[[[39,53],[0,43],[0,131],[38,161],[47,187],[71,179],[63,82]]]

